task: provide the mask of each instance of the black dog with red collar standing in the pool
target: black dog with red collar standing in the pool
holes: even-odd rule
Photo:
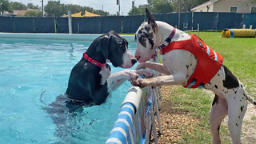
[[[128,42],[114,31],[102,34],[91,43],[82,54],[81,60],[73,67],[65,94],[44,108],[57,124],[57,135],[65,137],[67,119],[82,106],[100,105],[106,101],[111,91],[116,90],[126,80],[134,81],[138,74],[146,78],[152,76],[149,70],[122,70],[110,74],[111,62],[115,67],[130,68],[137,62],[128,50]],[[68,118],[67,118],[68,116]]]

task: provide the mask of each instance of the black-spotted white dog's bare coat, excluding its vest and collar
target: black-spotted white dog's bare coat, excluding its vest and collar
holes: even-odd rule
[[[165,42],[173,32],[174,27],[166,22],[154,21],[154,17],[146,10],[148,22],[143,22],[135,34],[138,47],[135,53],[140,67],[149,68],[165,74],[156,78],[138,78],[133,82],[134,86],[163,86],[186,85],[197,66],[197,58],[186,50],[171,50],[162,55],[162,64],[146,62],[154,58],[154,52],[158,46]],[[190,34],[176,30],[171,42],[182,41],[191,38]],[[210,110],[210,130],[213,143],[221,143],[219,128],[223,118],[228,114],[228,127],[234,144],[241,143],[242,119],[246,114],[247,100],[254,105],[242,83],[222,65],[218,73],[204,85],[204,88],[215,94],[214,102]]]

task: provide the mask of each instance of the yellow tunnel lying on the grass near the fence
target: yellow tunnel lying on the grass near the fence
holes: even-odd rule
[[[222,38],[255,38],[256,30],[226,29],[222,30]]]

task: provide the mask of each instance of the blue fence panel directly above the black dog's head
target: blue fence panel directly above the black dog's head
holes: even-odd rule
[[[107,33],[114,30],[117,33],[122,33],[122,17],[102,17],[102,33]]]

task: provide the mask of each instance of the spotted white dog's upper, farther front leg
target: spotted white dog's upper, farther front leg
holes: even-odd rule
[[[138,69],[140,69],[142,67],[158,71],[158,72],[160,72],[162,74],[167,74],[167,75],[170,74],[170,72],[166,69],[166,66],[163,66],[162,63],[142,62],[142,63],[138,64],[136,69],[138,70]]]

